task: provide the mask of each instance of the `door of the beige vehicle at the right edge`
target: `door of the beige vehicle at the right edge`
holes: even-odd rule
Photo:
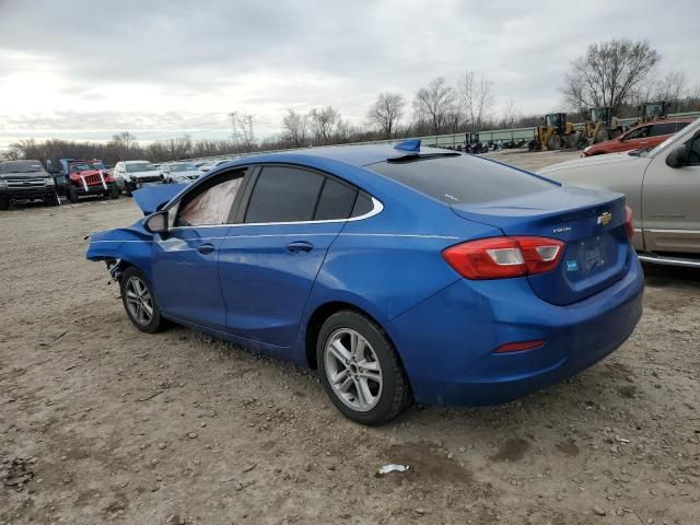
[[[667,148],[650,163],[642,186],[648,250],[700,254],[700,132],[685,141],[686,165],[672,167]],[[680,145],[680,144],[678,144]]]

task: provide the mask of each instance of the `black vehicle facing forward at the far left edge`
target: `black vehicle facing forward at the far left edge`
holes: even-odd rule
[[[20,200],[60,205],[56,179],[40,161],[0,162],[0,210],[7,210],[10,202]]]

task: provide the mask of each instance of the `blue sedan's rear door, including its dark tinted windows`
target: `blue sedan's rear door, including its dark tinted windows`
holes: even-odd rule
[[[233,334],[292,343],[328,247],[358,190],[319,172],[264,165],[221,246],[219,275]]]

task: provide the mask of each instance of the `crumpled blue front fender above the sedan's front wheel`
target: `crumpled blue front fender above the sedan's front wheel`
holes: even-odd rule
[[[151,247],[153,234],[143,230],[141,221],[130,228],[119,228],[90,235],[86,258],[121,260],[136,266],[151,280]]]

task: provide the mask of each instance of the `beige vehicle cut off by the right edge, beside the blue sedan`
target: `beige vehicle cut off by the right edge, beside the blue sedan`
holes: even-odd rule
[[[640,259],[700,267],[700,119],[649,152],[580,159],[540,173],[625,194]]]

